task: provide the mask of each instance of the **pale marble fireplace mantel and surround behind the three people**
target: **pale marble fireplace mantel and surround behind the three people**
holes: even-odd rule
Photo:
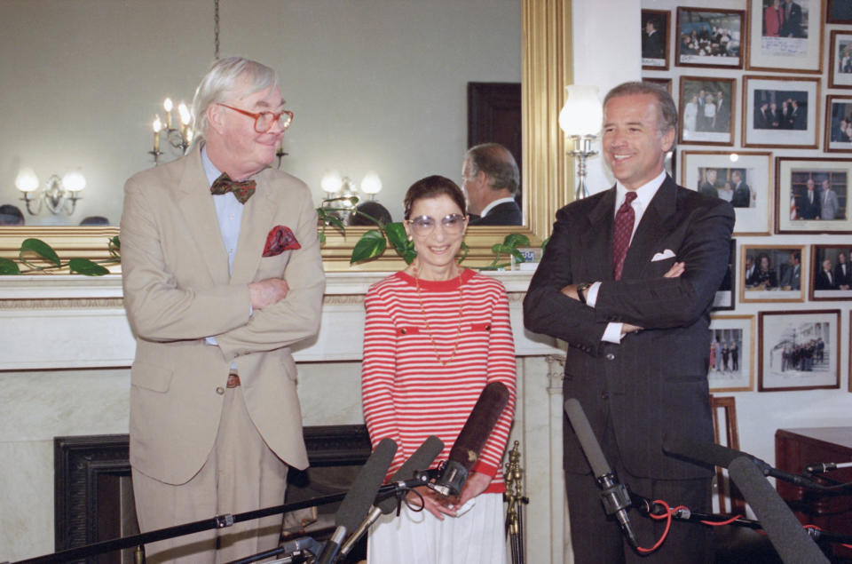
[[[525,469],[526,557],[571,561],[562,467],[562,350],[524,330],[532,273],[490,273],[509,292],[517,353],[510,441]],[[364,294],[387,273],[327,274],[319,335],[295,351],[305,425],[362,424]],[[0,561],[53,549],[53,438],[128,432],[135,350],[120,275],[0,276]],[[568,555],[566,555],[566,551]]]

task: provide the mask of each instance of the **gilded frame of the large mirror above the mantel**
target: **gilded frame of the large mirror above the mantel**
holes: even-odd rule
[[[522,233],[538,245],[550,234],[556,210],[571,202],[574,175],[572,159],[566,158],[566,141],[559,129],[559,110],[564,86],[572,83],[571,0],[521,0],[521,127],[523,139],[522,227],[470,227],[466,266],[485,266],[493,259],[491,247],[509,233]],[[460,164],[461,166],[461,164]],[[350,265],[352,248],[368,227],[348,227],[339,234],[326,229],[322,248],[327,272],[395,271],[405,263],[392,250],[382,258]],[[0,228],[0,257],[17,258],[20,243],[29,237],[42,239],[60,258],[109,258],[107,240],[118,234],[117,226],[23,226]],[[119,267],[111,269],[120,272]]]

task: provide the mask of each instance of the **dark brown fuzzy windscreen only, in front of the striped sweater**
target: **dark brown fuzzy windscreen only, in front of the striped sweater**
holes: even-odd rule
[[[461,427],[459,438],[450,449],[449,459],[470,470],[477,463],[485,441],[497,425],[497,419],[509,401],[509,389],[501,382],[492,382],[479,394],[468,420]]]

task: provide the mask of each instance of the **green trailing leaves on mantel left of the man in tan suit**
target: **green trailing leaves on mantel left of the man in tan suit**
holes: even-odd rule
[[[11,258],[0,258],[0,274],[48,273],[67,268],[68,274],[103,276],[104,274],[109,274],[109,270],[101,265],[114,265],[121,262],[121,242],[118,235],[110,237],[107,240],[106,249],[109,251],[111,258],[103,260],[71,258],[67,262],[62,262],[56,251],[46,242],[43,242],[41,239],[25,239],[24,242],[20,243],[20,251],[18,253],[18,262],[20,262],[20,265],[25,266],[25,268],[22,270],[18,262],[15,262]],[[35,260],[47,264],[36,264]]]

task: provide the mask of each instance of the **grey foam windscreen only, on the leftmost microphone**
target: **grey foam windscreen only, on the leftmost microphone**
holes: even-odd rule
[[[373,454],[367,458],[367,462],[361,467],[358,477],[340,502],[340,508],[335,514],[335,525],[345,527],[347,531],[353,531],[370,510],[375,500],[375,494],[388,473],[393,455],[397,453],[397,443],[390,439],[383,439],[375,447]]]

